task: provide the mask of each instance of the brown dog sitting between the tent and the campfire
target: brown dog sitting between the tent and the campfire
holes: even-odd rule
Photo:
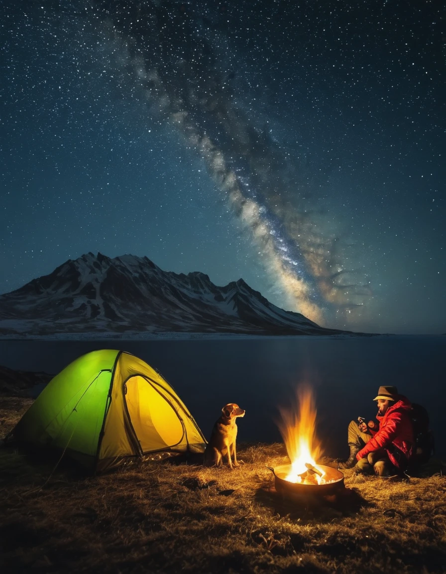
[[[214,424],[209,443],[206,446],[205,466],[213,466],[213,464],[220,466],[223,464],[225,455],[228,456],[230,468],[240,466],[237,462],[236,453],[236,418],[244,416],[245,411],[234,402],[230,402],[221,409],[221,417]],[[234,464],[232,464],[231,456],[234,458]]]

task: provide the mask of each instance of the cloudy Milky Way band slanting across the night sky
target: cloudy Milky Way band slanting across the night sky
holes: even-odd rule
[[[323,218],[299,205],[299,165],[275,144],[268,119],[256,121],[238,101],[238,76],[249,74],[231,46],[224,5],[111,4],[99,2],[97,12],[113,46],[108,57],[138,78],[148,110],[204,158],[288,305],[319,323],[361,306],[370,286],[346,268],[346,246],[334,249],[342,242]]]

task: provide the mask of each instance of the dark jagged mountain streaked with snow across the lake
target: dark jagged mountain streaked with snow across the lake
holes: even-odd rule
[[[147,257],[69,259],[0,296],[0,335],[57,333],[334,335],[283,311],[242,279],[218,287],[204,273],[166,272]]]

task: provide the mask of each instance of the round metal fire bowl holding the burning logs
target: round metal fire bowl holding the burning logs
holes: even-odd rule
[[[276,487],[277,492],[281,492],[281,494],[295,494],[299,496],[316,495],[325,497],[337,494],[339,490],[345,488],[344,475],[341,471],[338,471],[336,468],[323,466],[322,464],[318,464],[318,467],[322,468],[325,472],[324,479],[334,480],[335,482],[329,482],[328,484],[303,484],[299,482],[289,482],[288,480],[285,480],[285,476],[287,476],[289,471],[291,471],[291,464],[281,464],[281,466],[275,468],[267,468],[269,468],[275,476],[274,486]]]

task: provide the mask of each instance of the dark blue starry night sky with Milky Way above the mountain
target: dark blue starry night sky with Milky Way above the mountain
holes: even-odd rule
[[[446,9],[3,3],[0,293],[92,251],[446,332]]]

